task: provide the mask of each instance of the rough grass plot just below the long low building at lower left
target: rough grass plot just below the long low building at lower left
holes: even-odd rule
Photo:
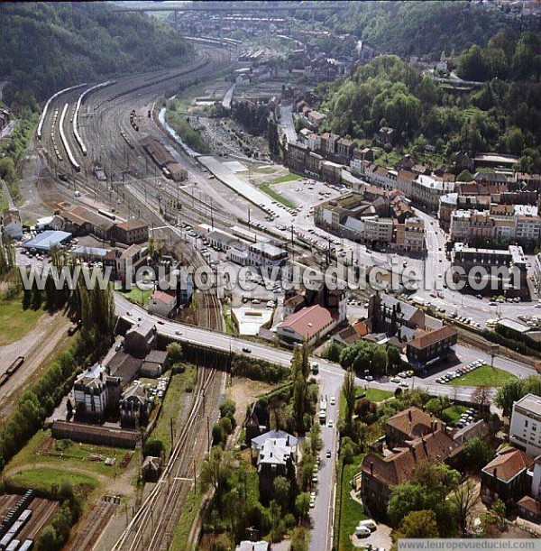
[[[128,450],[107,447],[105,445],[78,444],[70,440],[54,440],[50,430],[41,430],[32,436],[30,442],[14,456],[6,466],[7,471],[23,469],[29,465],[50,464],[52,470],[69,472],[72,468],[84,470],[88,476],[93,474],[114,477],[122,473],[120,463]],[[104,461],[92,461],[92,455],[114,457],[115,465],[108,466]],[[133,455],[130,463],[136,461]]]

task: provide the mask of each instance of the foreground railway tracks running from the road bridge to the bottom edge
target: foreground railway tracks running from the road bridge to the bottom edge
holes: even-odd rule
[[[171,450],[170,460],[151,494],[135,513],[111,551],[167,550],[179,520],[180,508],[193,480],[196,456],[206,451],[205,417],[215,414],[220,393],[215,368],[200,368],[188,419]],[[199,436],[199,437],[197,437]],[[189,444],[193,443],[190,450]],[[201,449],[203,448],[203,449]]]

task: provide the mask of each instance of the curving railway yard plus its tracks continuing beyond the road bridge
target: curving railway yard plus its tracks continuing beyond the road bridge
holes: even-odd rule
[[[205,257],[177,227],[179,214],[182,220],[197,225],[206,222],[212,211],[215,223],[226,226],[231,223],[229,213],[232,210],[240,213],[244,207],[239,207],[241,202],[227,188],[225,196],[229,195],[239,205],[213,203],[213,194],[208,189],[196,187],[198,182],[206,183],[206,175],[196,161],[180,157],[160,131],[155,123],[156,101],[169,90],[188,86],[195,78],[205,81],[215,77],[229,66],[230,56],[227,50],[202,46],[183,69],[92,87],[80,85],[52,96],[38,124],[37,152],[46,166],[35,181],[40,198],[36,201],[34,197],[31,208],[43,214],[67,205],[80,205],[95,212],[114,211],[125,219],[142,217],[153,227],[154,239],[166,243],[182,262],[195,267],[203,265]],[[152,163],[141,145],[145,135],[154,135],[167,143],[188,170],[185,186],[163,177]],[[103,167],[105,181],[96,179],[96,166]],[[222,306],[212,291],[197,295],[197,324],[224,328]],[[24,366],[23,361],[19,363]],[[23,371],[23,367],[19,369]],[[10,375],[5,375],[0,394],[10,388]],[[169,548],[183,500],[192,488],[197,461],[208,448],[207,419],[216,417],[223,387],[223,372],[199,370],[193,401],[160,482],[152,487],[140,507],[130,508],[132,514],[126,509],[125,516],[124,508],[123,514],[115,514],[120,510],[118,498],[109,495],[100,498],[79,522],[69,549]],[[54,504],[50,514],[41,517],[43,523],[53,513]],[[36,531],[37,528],[29,534],[32,536]]]

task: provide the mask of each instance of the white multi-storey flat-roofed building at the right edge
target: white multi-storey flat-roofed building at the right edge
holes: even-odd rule
[[[513,404],[509,442],[528,455],[541,455],[541,396],[527,394]]]

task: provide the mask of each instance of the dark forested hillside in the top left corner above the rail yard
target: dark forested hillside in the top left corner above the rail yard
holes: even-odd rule
[[[190,46],[165,23],[105,2],[0,3],[0,77],[38,99],[83,81],[178,64]]]

